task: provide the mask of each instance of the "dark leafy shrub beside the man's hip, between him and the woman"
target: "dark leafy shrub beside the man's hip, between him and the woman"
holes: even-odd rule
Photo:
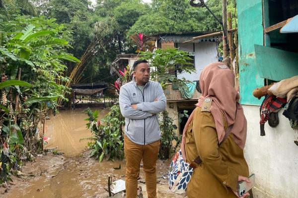
[[[166,110],[161,112],[162,119],[159,122],[159,129],[161,133],[160,137],[160,149],[158,157],[160,159],[168,159],[176,151],[179,146],[182,137],[178,137],[175,133],[177,126],[173,124],[173,119],[169,117]],[[176,142],[175,147],[173,141]]]

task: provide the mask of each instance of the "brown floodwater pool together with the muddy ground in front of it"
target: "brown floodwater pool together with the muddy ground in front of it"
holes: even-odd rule
[[[0,198],[107,198],[107,177],[113,180],[125,180],[125,160],[103,161],[89,158],[84,152],[88,141],[80,141],[91,137],[85,128],[87,116],[82,110],[60,111],[47,121],[48,145],[46,148],[57,148],[64,155],[48,154],[40,156],[36,162],[23,169],[24,177],[17,178],[15,186]],[[100,110],[99,117],[108,112]],[[82,154],[83,153],[83,154]],[[121,169],[114,169],[119,167]],[[171,194],[166,174],[169,161],[157,162],[157,194],[158,198],[180,198]],[[141,170],[139,186],[144,197],[147,197],[144,172]],[[20,180],[21,179],[21,180]]]

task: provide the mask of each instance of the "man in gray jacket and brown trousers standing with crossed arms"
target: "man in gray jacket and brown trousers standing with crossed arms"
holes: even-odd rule
[[[125,117],[124,153],[126,158],[127,198],[136,198],[140,164],[143,170],[148,198],[156,198],[156,161],[160,146],[157,114],[166,107],[166,98],[159,83],[149,81],[147,60],[137,60],[134,78],[120,89],[119,103]]]

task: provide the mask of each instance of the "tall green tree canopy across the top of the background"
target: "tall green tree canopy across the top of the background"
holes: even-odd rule
[[[82,57],[94,42],[95,24],[106,23],[108,34],[97,48],[100,52],[86,61],[84,83],[108,77],[109,66],[121,52],[134,53],[136,45],[130,39],[135,33],[154,35],[169,32],[218,31],[221,25],[206,8],[189,5],[189,0],[1,0],[0,19],[12,20],[17,14],[43,15],[63,24],[69,31],[68,52]],[[222,18],[222,0],[208,0],[210,9]],[[235,0],[228,0],[228,10],[235,17]],[[110,25],[109,25],[110,24]],[[70,75],[75,63],[67,63]],[[104,74],[102,74],[104,72]],[[90,74],[93,77],[90,77]],[[108,75],[108,76],[107,76]],[[107,79],[112,80],[113,77]]]

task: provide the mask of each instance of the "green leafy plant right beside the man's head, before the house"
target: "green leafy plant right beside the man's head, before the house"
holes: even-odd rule
[[[180,49],[156,49],[153,52],[141,52],[141,58],[150,61],[151,70],[150,75],[153,81],[157,81],[163,88],[166,83],[173,83],[180,91],[185,89],[186,79],[177,79],[173,71],[182,70],[183,72],[194,72],[195,68],[188,56],[189,53]]]

